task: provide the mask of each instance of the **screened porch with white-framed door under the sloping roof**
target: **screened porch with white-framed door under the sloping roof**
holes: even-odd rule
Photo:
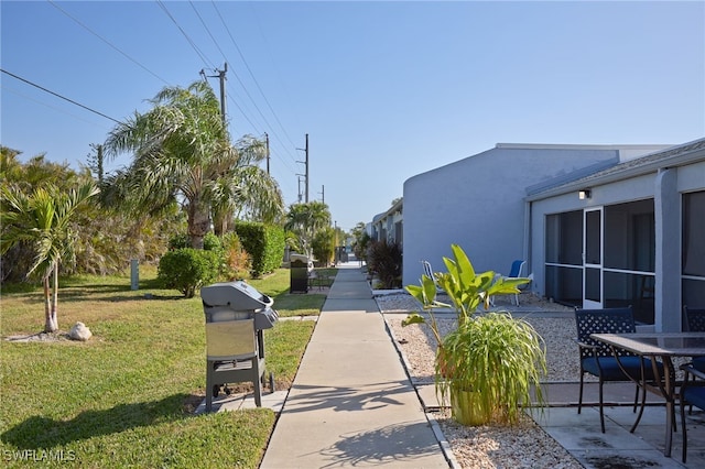
[[[705,139],[528,200],[539,293],[631,305],[638,324],[664,331],[682,329],[684,305],[705,308]]]

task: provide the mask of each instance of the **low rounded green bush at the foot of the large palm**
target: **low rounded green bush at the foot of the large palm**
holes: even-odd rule
[[[220,264],[219,252],[182,248],[162,257],[156,276],[164,287],[193,298],[197,288],[218,279]]]

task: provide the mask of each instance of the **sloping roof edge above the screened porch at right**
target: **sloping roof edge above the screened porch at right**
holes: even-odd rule
[[[622,181],[654,173],[660,168],[683,166],[699,161],[705,161],[705,138],[649,153],[623,163],[610,160],[576,171],[567,176],[527,187],[527,200],[540,200],[578,188]]]

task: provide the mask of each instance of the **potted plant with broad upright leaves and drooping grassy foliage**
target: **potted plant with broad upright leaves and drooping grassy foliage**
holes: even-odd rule
[[[508,312],[489,312],[492,296],[518,293],[529,279],[505,279],[492,271],[475,273],[457,246],[453,259],[444,258],[447,272],[435,279],[423,275],[421,285],[405,290],[423,305],[427,319],[419,313],[402,323],[429,324],[436,341],[435,384],[441,402],[449,396],[453,417],[465,425],[490,421],[514,424],[522,403],[534,399],[543,405],[540,378],[546,373],[545,345],[534,328]],[[437,299],[437,287],[451,304]],[[477,313],[480,305],[485,312]],[[453,308],[456,327],[442,337],[434,308]]]

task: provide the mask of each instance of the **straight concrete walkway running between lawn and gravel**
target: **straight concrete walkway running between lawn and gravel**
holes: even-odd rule
[[[448,467],[355,263],[338,270],[260,467],[345,466]]]

